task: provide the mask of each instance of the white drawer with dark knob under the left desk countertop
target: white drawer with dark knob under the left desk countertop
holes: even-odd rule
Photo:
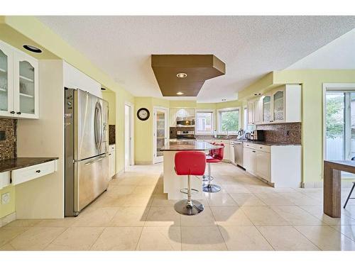
[[[12,171],[12,184],[21,184],[23,182],[43,177],[45,174],[50,174],[56,171],[57,161],[44,162],[39,165],[24,167]]]

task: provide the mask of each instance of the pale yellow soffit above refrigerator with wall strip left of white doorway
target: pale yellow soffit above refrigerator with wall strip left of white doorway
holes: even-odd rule
[[[121,172],[124,169],[124,102],[133,103],[133,95],[33,16],[1,16],[0,29],[1,40],[10,45],[21,48],[23,42],[31,42],[43,49],[42,55],[35,55],[38,59],[61,58],[116,93],[116,170]]]

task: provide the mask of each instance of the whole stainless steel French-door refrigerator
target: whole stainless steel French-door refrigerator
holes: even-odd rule
[[[109,104],[65,88],[65,216],[77,216],[109,184]]]

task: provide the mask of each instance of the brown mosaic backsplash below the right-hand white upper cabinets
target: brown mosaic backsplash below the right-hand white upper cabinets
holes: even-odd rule
[[[301,144],[301,123],[258,125],[265,131],[265,140],[272,143]]]

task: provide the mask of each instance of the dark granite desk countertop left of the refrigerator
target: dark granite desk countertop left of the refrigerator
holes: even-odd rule
[[[0,172],[7,172],[32,165],[39,165],[43,162],[58,160],[58,157],[17,157],[13,159],[0,160]]]

